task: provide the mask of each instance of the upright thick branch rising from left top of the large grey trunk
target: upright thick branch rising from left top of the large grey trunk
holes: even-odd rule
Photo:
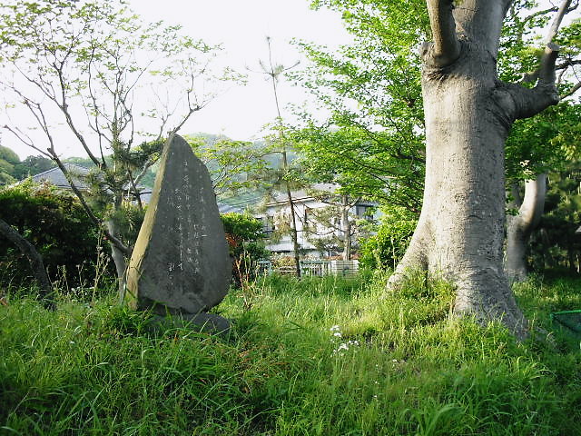
[[[437,67],[454,63],[460,55],[453,0],[426,0],[434,42],[424,51],[424,62]],[[426,48],[426,47],[425,47]]]

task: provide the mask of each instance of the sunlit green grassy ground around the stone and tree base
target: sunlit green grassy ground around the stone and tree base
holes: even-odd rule
[[[157,336],[113,296],[0,306],[0,434],[576,435],[579,339],[516,343],[449,317],[446,284],[271,278],[218,308],[227,338]],[[581,308],[581,281],[518,285],[527,316]],[[250,311],[244,307],[251,306]]]

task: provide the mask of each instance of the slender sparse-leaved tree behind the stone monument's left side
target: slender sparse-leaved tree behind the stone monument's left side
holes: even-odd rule
[[[232,78],[229,70],[218,75],[210,67],[220,47],[182,35],[179,26],[143,23],[126,5],[40,0],[0,6],[0,85],[17,111],[4,127],[65,174],[59,157],[65,141],[94,163],[92,185],[108,213],[98,213],[70,177],[69,183],[111,243],[120,292],[133,241],[123,239],[115,216],[127,200],[141,204],[140,180],[163,139],[208,104],[213,84]]]

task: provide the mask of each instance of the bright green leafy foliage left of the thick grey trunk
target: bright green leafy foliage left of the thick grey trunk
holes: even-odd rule
[[[330,117],[305,114],[300,151],[325,182],[419,213],[424,172],[421,40],[424,2],[320,1],[342,14],[353,38],[336,53],[299,43],[311,66],[294,74]]]

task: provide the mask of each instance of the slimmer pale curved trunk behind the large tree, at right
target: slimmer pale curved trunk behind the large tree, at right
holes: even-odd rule
[[[538,174],[525,183],[525,197],[518,202],[518,214],[507,223],[507,253],[505,267],[508,280],[522,282],[527,278],[527,249],[530,235],[543,216],[547,196],[547,174]]]

